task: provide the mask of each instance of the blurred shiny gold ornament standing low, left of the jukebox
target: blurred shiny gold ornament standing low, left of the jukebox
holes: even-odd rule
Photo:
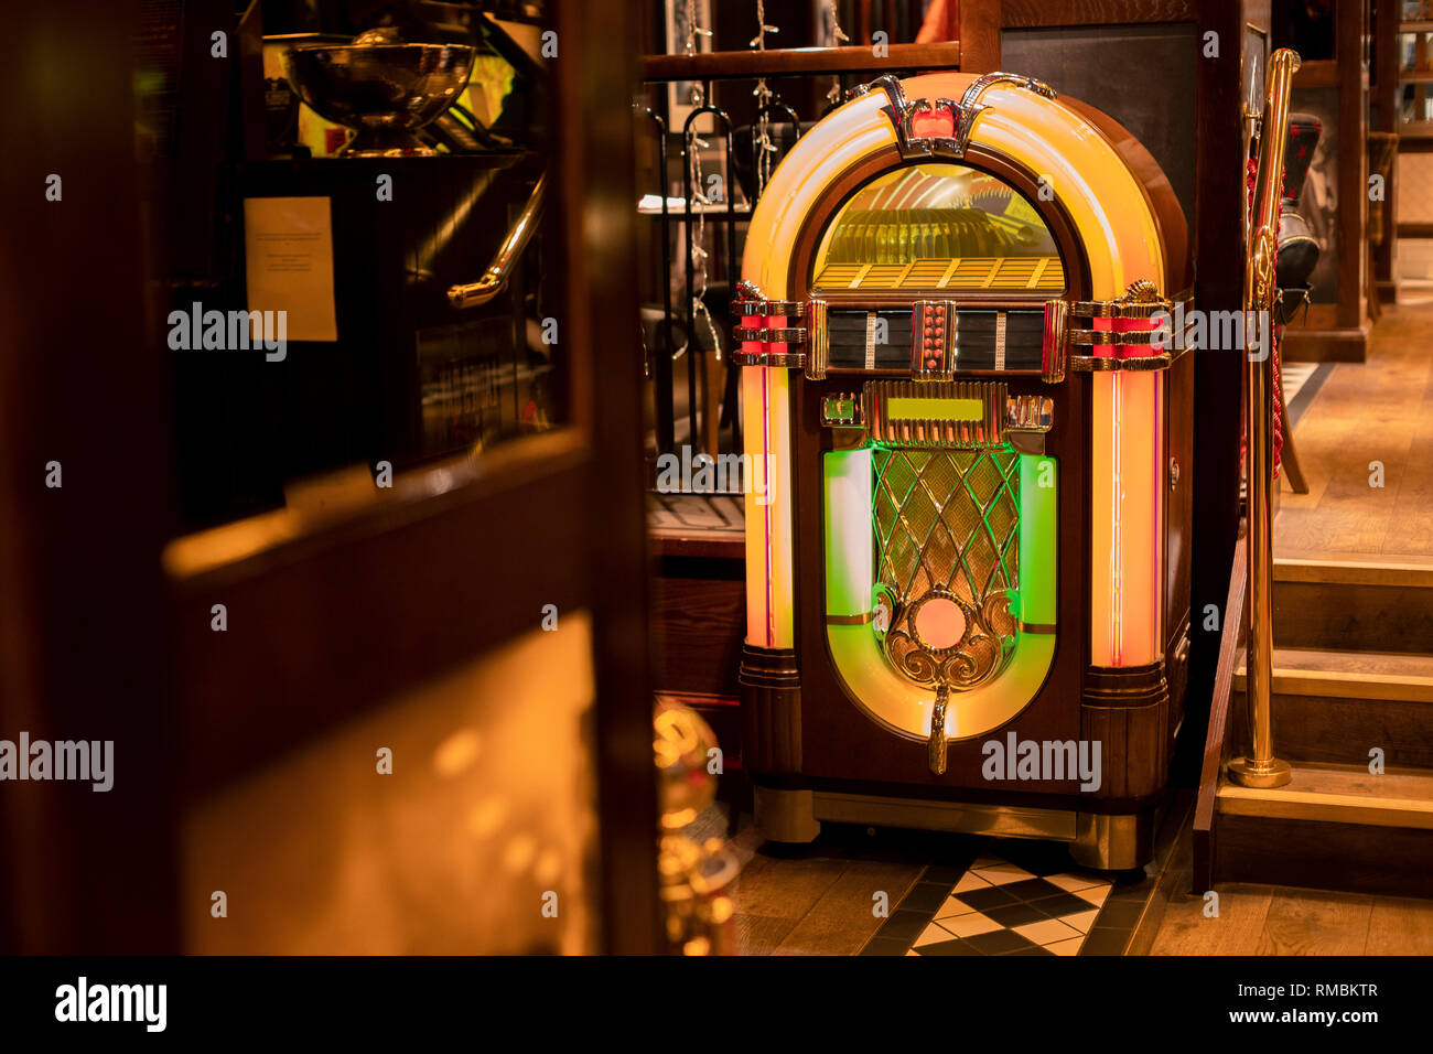
[[[741,868],[722,839],[698,843],[681,833],[716,800],[716,736],[696,713],[666,700],[656,704],[652,733],[662,827],[656,868],[668,951],[732,955],[737,929],[731,886]]]

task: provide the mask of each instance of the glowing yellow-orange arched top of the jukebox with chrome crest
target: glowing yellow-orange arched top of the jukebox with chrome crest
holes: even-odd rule
[[[1135,281],[1172,297],[1188,285],[1185,219],[1148,151],[1108,115],[1005,73],[881,77],[827,115],[772,174],[751,217],[742,275],[772,300],[798,301],[838,285],[835,272],[813,265],[844,262],[830,254],[848,244],[833,241],[843,221],[857,218],[848,209],[861,211],[873,186],[910,189],[910,169],[916,178],[946,176],[931,181],[946,184],[946,202],[990,217],[963,217],[990,237],[982,242],[972,234],[962,248],[1003,245],[992,255],[1026,255],[992,225],[1037,224],[1052,242],[1046,255],[1060,257],[1072,297],[1115,300]],[[1005,192],[1010,198],[1000,209]],[[1036,284],[1046,295],[1060,293],[1045,274]],[[949,280],[937,287],[952,288]]]

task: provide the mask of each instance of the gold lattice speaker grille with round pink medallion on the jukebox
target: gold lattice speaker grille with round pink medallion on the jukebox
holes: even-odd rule
[[[976,688],[1015,651],[1019,453],[877,447],[873,457],[886,655],[917,684]]]

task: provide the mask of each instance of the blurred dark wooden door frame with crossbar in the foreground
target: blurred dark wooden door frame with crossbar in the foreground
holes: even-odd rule
[[[570,424],[474,466],[408,473],[390,500],[322,525],[278,513],[268,535],[245,521],[181,539],[165,551],[168,572],[168,367],[145,310],[132,11],[54,0],[0,42],[13,98],[53,96],[0,132],[20,159],[4,189],[34,202],[0,232],[6,260],[24,262],[6,275],[24,310],[3,313],[0,340],[34,351],[0,366],[0,579],[11,584],[0,591],[0,734],[125,744],[110,794],[4,796],[6,843],[27,856],[0,868],[0,946],[182,951],[186,803],[537,628],[542,605],[556,604],[586,609],[593,634],[602,948],[662,948],[636,196],[625,163],[633,7],[552,4],[547,222],[560,232],[552,303]],[[67,42],[72,90],[32,83],[32,26]],[[64,205],[47,209],[52,171],[64,174]],[[43,483],[50,459],[63,462],[60,490]],[[225,634],[209,631],[215,602],[229,605]],[[305,615],[315,605],[322,625]]]

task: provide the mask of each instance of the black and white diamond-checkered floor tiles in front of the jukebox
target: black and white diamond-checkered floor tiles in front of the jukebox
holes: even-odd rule
[[[1078,955],[1112,888],[1093,875],[982,856],[907,955]]]

